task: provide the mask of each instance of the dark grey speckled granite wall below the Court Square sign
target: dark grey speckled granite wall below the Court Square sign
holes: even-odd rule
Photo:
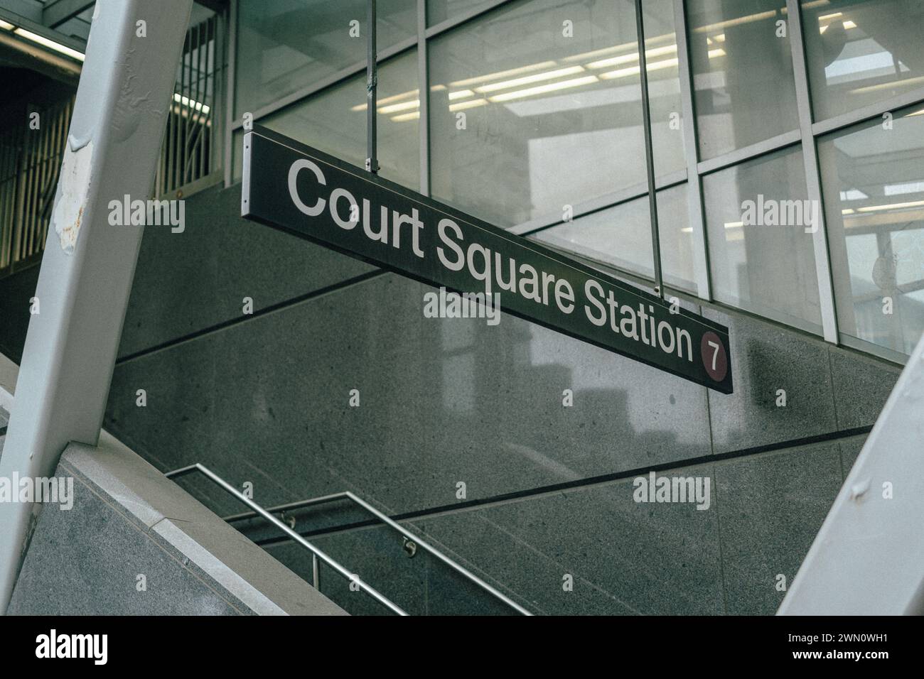
[[[727,309],[701,311],[730,327],[731,395],[507,315],[425,319],[430,288],[239,219],[239,190],[190,198],[183,234],[145,233],[105,426],[264,505],[353,491],[534,612],[772,613],[897,377]],[[710,479],[710,508],[634,502],[651,470]],[[408,610],[504,610],[355,509],[293,518]],[[322,591],[376,612],[333,573]]]

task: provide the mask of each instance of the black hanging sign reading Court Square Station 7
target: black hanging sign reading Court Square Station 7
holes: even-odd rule
[[[732,393],[719,323],[269,130],[244,136],[241,214]]]

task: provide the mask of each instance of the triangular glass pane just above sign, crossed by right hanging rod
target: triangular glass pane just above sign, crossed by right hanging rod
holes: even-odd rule
[[[688,226],[687,185],[658,191],[664,282],[693,289],[692,229]],[[533,237],[569,252],[652,278],[648,196],[544,229]]]

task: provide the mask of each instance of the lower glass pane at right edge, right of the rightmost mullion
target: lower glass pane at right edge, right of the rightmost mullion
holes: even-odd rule
[[[924,332],[924,108],[818,152],[840,332],[910,354]]]

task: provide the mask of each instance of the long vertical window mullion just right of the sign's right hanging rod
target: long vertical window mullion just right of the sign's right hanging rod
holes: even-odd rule
[[[702,177],[699,176],[699,130],[693,101],[693,73],[687,43],[687,14],[684,0],[674,0],[674,31],[677,43],[677,75],[680,79],[680,105],[684,120],[684,156],[687,159],[687,210],[693,229],[693,277],[697,295],[712,299],[709,274],[709,235],[703,217]]]

